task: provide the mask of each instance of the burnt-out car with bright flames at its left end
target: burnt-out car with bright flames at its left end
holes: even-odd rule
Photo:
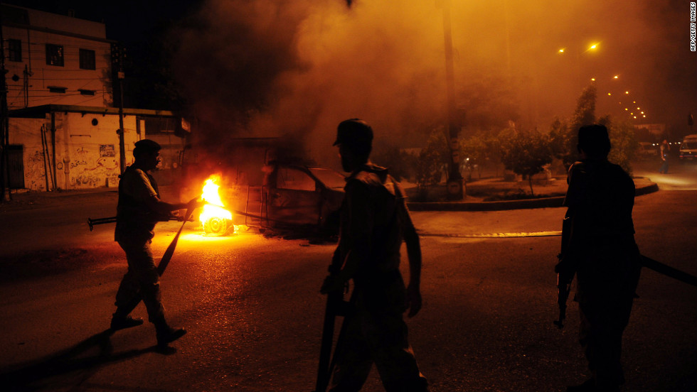
[[[229,234],[243,225],[334,236],[339,232],[344,175],[297,156],[301,148],[294,143],[285,138],[226,138],[219,148],[187,146],[175,185],[179,200],[203,196],[206,184],[215,185],[215,195],[204,197],[210,203],[203,208],[206,214],[198,217],[208,235]],[[214,211],[214,205],[227,212]]]

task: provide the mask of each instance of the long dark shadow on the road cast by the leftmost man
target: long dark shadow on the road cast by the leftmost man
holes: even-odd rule
[[[125,361],[148,352],[174,354],[176,349],[157,346],[114,352],[112,330],[105,330],[42,359],[13,366],[15,369],[0,374],[3,391],[50,391],[66,386],[79,386],[90,379],[102,366]]]

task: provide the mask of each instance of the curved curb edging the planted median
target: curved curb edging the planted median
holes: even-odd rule
[[[637,187],[636,196],[658,192],[656,183]],[[506,209],[563,207],[564,196],[540,199],[504,200],[500,202],[407,202],[411,211],[504,211]]]

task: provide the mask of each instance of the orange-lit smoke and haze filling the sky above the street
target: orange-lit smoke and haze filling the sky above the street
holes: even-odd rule
[[[360,117],[377,143],[417,146],[445,124],[439,3],[206,1],[179,28],[176,75],[209,145],[227,135],[292,135],[333,162],[336,124]],[[466,119],[548,129],[573,113],[591,77],[599,115],[624,116],[631,98],[647,123],[686,134],[688,111],[697,114],[688,1],[454,0],[451,16]],[[473,124],[465,121],[466,131]]]

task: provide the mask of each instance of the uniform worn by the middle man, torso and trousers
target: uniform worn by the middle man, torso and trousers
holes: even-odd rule
[[[400,246],[403,232],[415,230],[403,192],[387,169],[370,164],[349,176],[345,190],[334,257],[344,260],[359,246],[367,247],[368,257],[353,276],[355,313],[344,321],[331,391],[359,391],[373,362],[386,391],[427,391],[403,320],[407,300]]]

